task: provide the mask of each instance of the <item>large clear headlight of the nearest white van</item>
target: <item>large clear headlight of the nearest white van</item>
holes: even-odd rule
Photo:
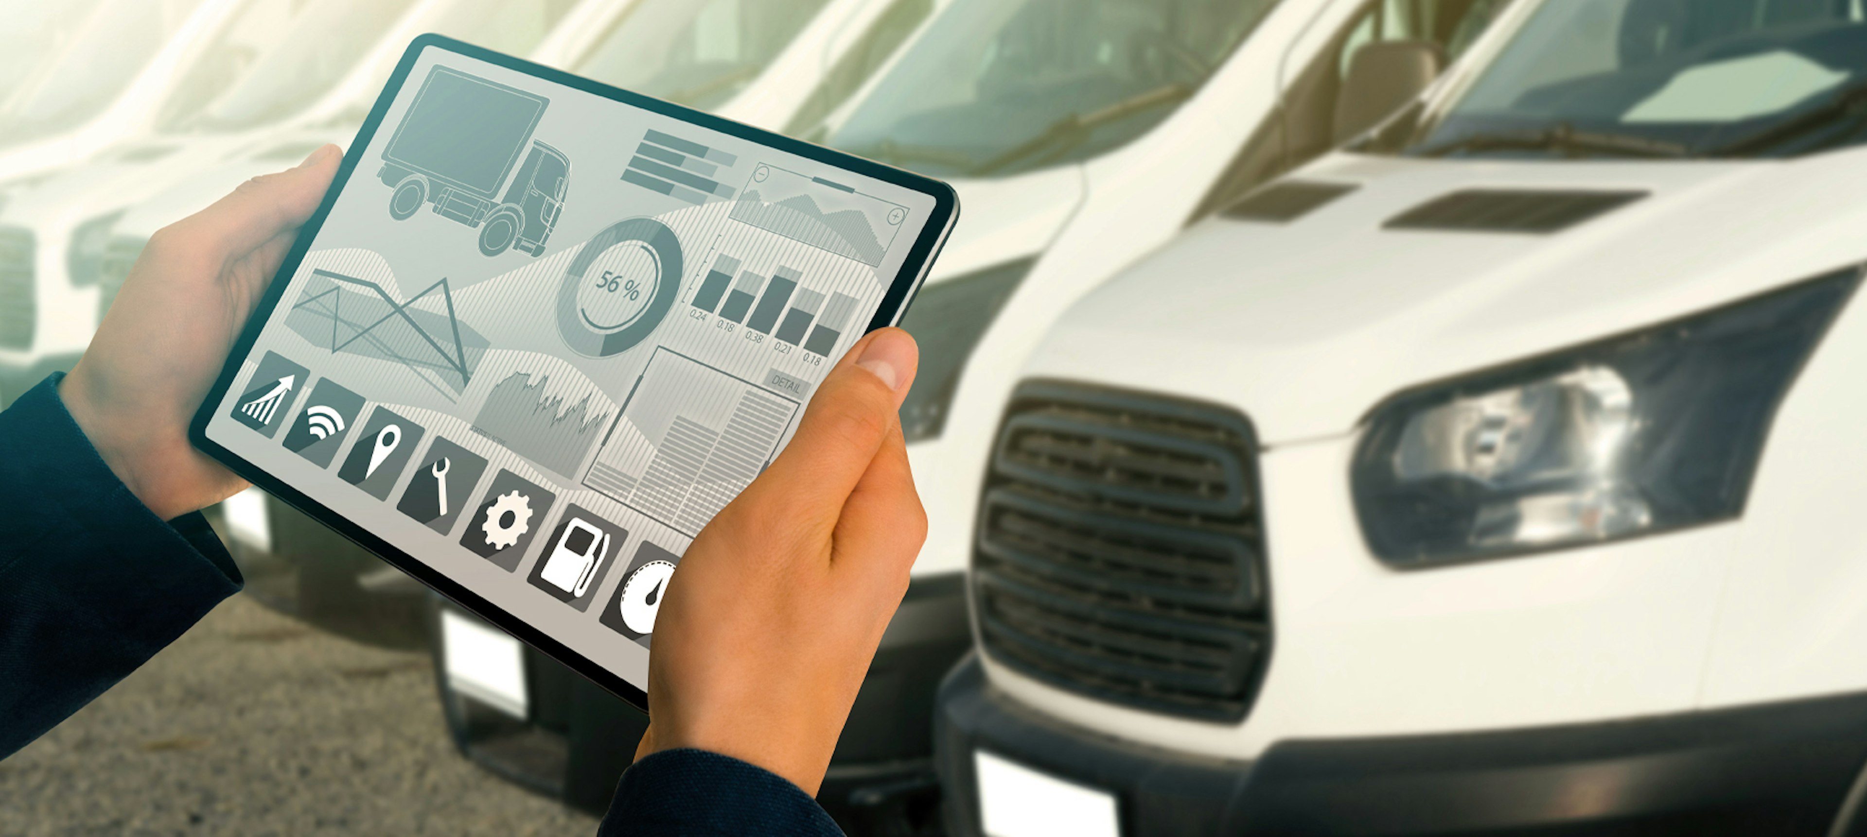
[[[1635,334],[1400,393],[1355,446],[1355,515],[1397,567],[1734,518],[1848,268]]]

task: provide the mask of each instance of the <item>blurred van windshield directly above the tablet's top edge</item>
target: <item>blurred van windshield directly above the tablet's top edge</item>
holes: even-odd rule
[[[709,110],[758,78],[827,0],[637,0],[571,73]]]

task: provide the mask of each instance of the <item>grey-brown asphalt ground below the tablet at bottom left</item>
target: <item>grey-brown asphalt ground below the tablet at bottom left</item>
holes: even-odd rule
[[[233,597],[0,761],[0,835],[594,835],[448,740],[428,654]]]

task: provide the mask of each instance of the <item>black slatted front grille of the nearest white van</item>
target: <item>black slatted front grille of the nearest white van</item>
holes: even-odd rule
[[[973,597],[1004,665],[1111,703],[1243,718],[1271,634],[1251,425],[1158,395],[1019,386]]]

